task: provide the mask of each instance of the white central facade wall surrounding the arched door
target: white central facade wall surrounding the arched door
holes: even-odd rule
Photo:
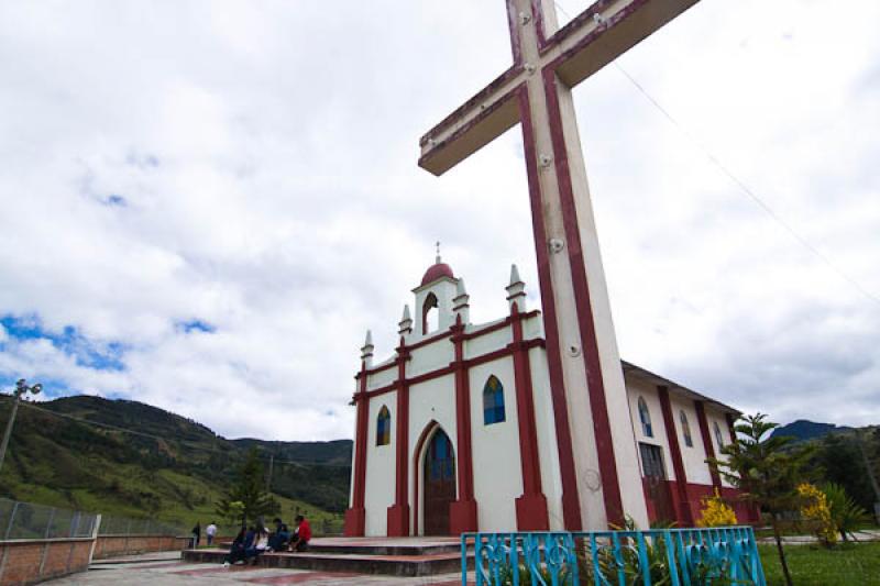
[[[441,341],[448,346],[452,344],[448,340]],[[437,344],[431,344],[427,347],[433,347]],[[427,347],[425,350],[427,350]],[[414,361],[417,353],[424,352],[422,349],[414,352]],[[426,361],[427,362],[427,361]],[[459,444],[458,444],[458,428],[455,425],[455,379],[452,375],[446,375],[425,383],[413,385],[409,387],[409,504],[410,504],[410,528],[418,526],[419,535],[425,533],[425,523],[422,522],[422,513],[425,506],[422,497],[424,490],[419,490],[418,499],[415,491],[415,479],[422,478],[422,461],[424,452],[416,454],[416,447],[421,436],[422,431],[428,427],[431,421],[436,421],[440,428],[449,435],[452,443],[452,450],[455,454],[455,465],[459,464]],[[481,420],[482,421],[482,420]],[[425,444],[427,446],[427,442]],[[424,447],[422,446],[422,450]],[[416,466],[413,465],[414,456]],[[457,469],[458,474],[458,469]],[[389,494],[394,495],[393,486],[388,488]]]

